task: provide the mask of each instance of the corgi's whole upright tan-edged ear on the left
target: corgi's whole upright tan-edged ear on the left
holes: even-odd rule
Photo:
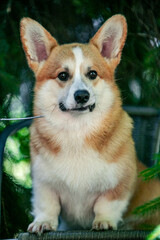
[[[57,41],[38,22],[31,18],[23,18],[20,23],[20,34],[30,68],[37,72],[40,63],[49,57]]]

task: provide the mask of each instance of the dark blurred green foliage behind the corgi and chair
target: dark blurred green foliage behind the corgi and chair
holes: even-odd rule
[[[125,15],[128,38],[116,72],[124,104],[160,107],[159,9],[159,0],[1,0],[0,118],[32,115],[34,77],[20,42],[19,22],[22,17],[40,22],[59,43],[70,43],[87,42],[107,18],[117,13]],[[131,88],[133,82],[138,86],[138,97]],[[11,122],[0,122],[0,131],[8,124]],[[20,155],[14,155],[8,147],[6,160],[11,159],[15,164],[22,160],[29,162],[28,135],[17,133],[13,137]],[[2,237],[5,238],[13,237],[20,229],[25,231],[30,218],[29,201],[23,203],[27,209],[23,213],[24,207],[22,209],[19,203],[25,194],[28,196],[29,185],[16,182],[14,176],[8,174],[9,177],[5,175],[7,180],[4,180],[2,199]],[[19,199],[12,207],[7,197],[11,192],[17,193]],[[13,209],[17,209],[17,214],[12,214]]]

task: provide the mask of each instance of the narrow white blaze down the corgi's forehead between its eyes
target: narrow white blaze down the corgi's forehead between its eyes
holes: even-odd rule
[[[74,81],[81,81],[81,72],[80,67],[84,61],[84,56],[82,49],[80,47],[75,47],[72,49],[74,57],[75,57],[75,73],[74,73]]]

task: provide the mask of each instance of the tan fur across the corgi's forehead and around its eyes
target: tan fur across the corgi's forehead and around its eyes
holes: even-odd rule
[[[88,60],[92,69],[97,71],[97,74],[100,77],[98,78],[98,80],[93,81],[94,86],[98,84],[100,79],[106,79],[106,81],[114,80],[114,71],[112,70],[111,65],[108,64],[101,57],[99,51],[94,45],[74,43],[69,45],[57,46],[52,50],[50,57],[46,60],[44,66],[36,76],[36,89],[39,88],[48,79],[53,79],[54,81],[56,81],[56,83],[61,88],[65,87],[66,84],[69,84],[69,81],[61,82],[57,79],[57,76],[60,72],[66,71],[65,68],[62,68],[62,66],[64,65],[63,63],[67,62],[68,59],[71,59],[74,62],[74,55],[72,49],[77,46],[79,46],[83,51],[86,65]],[[70,75],[72,77],[73,73],[70,73]]]

